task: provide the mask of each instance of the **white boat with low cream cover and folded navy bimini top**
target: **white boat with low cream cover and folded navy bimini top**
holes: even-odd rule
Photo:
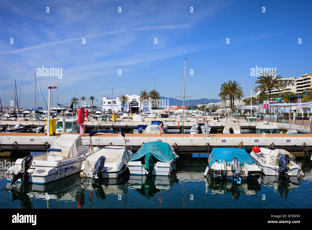
[[[96,133],[119,133],[124,137],[122,132],[113,130],[95,130],[90,132],[90,136]],[[126,164],[132,158],[132,147],[127,149],[126,141],[124,146],[105,146],[100,151],[88,156],[81,165],[81,175],[83,177],[100,179],[100,178],[118,178],[126,170]]]

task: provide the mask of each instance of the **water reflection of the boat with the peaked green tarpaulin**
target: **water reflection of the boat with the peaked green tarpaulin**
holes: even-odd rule
[[[138,191],[144,197],[150,199],[150,197],[154,197],[158,192],[169,190],[173,183],[177,183],[178,181],[175,173],[172,173],[170,177],[130,175],[129,188]],[[159,198],[161,199],[161,197]]]

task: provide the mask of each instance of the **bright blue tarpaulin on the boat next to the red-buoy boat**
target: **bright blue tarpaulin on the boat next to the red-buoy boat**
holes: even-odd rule
[[[208,164],[212,166],[216,161],[218,163],[222,163],[223,161],[231,163],[234,157],[237,158],[241,166],[244,165],[244,161],[249,165],[252,165],[254,161],[245,149],[213,148],[208,158]]]

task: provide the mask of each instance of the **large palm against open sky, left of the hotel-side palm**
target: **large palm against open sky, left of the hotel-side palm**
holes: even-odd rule
[[[234,99],[241,100],[241,98],[244,96],[242,88],[238,87],[239,85],[240,84],[238,84],[238,82],[236,82],[235,80],[234,82],[232,81],[224,82],[221,85],[220,88],[221,92],[218,95],[219,97],[221,97],[221,103],[222,101],[224,101],[225,103],[227,100],[230,100],[232,111],[234,108]]]

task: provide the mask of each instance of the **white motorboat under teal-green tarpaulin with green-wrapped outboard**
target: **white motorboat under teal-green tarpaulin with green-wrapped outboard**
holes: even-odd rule
[[[179,156],[168,143],[146,142],[128,162],[130,174],[169,176],[176,170]]]

